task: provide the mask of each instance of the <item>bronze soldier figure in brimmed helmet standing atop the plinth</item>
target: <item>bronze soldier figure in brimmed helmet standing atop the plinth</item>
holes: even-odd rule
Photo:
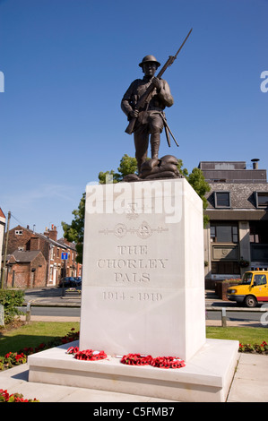
[[[134,146],[135,158],[137,159],[138,172],[147,159],[149,137],[151,142],[151,166],[159,159],[160,133],[166,123],[163,110],[173,105],[173,98],[170,93],[168,82],[155,77],[160,63],[154,56],[145,56],[139,64],[143,69],[143,79],[136,79],[131,83],[121,101],[121,107],[128,120],[135,118],[134,125]],[[151,95],[142,108],[137,109],[136,105],[152,85]]]

